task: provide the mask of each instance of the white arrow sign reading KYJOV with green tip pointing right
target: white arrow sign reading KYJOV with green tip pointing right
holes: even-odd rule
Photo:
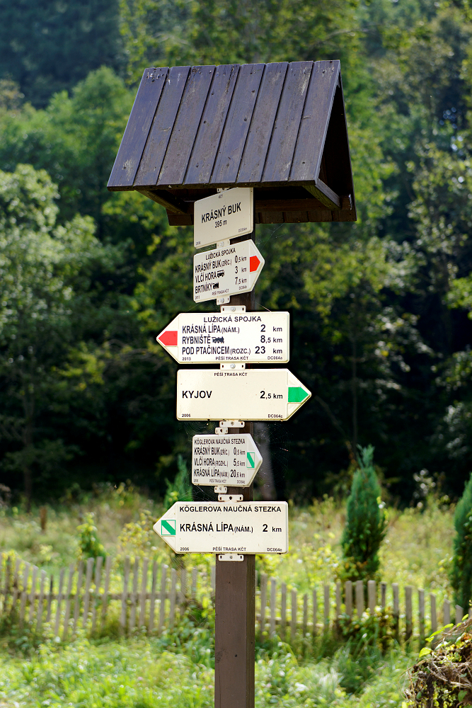
[[[288,369],[179,369],[179,421],[287,421],[311,393]]]

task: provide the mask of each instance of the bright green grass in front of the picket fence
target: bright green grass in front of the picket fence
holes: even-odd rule
[[[256,706],[401,707],[408,656],[393,652],[377,663],[374,679],[362,684],[357,695],[343,687],[348,656],[345,650],[331,659],[299,663],[284,645],[260,652]],[[212,657],[204,647],[191,658],[185,646],[163,646],[157,639],[102,644],[78,640],[63,649],[43,644],[28,661],[0,658],[0,705],[206,708],[213,700]]]

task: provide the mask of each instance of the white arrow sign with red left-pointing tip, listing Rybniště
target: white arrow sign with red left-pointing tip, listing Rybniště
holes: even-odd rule
[[[289,360],[288,312],[182,312],[156,337],[179,364]]]

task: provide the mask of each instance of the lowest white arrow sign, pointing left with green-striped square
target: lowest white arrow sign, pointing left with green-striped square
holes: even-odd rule
[[[154,524],[177,553],[287,553],[286,501],[178,501]]]

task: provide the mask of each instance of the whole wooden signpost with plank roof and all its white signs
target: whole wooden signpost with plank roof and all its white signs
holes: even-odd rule
[[[246,314],[264,265],[253,243],[255,223],[356,220],[345,115],[337,60],[149,67],[108,183],[163,205],[173,226],[193,223],[195,248],[215,245],[194,258],[193,299],[231,302],[234,310],[231,322],[224,307],[212,321],[180,314],[158,337],[180,363],[220,363],[219,370],[178,372],[179,420],[233,421],[221,426],[214,445],[217,436],[195,436],[195,483],[222,486],[231,469],[244,472],[250,485],[230,472],[227,496],[237,493],[241,504],[177,503],[154,526],[179,553],[217,556],[215,708],[254,707],[254,554],[285,552],[288,544],[287,505],[265,503],[270,510],[261,510],[252,501],[259,458],[254,446],[248,467],[252,423],[243,421],[285,421],[311,395],[287,369],[245,369],[289,360],[288,314]],[[225,442],[236,437],[247,447]],[[231,444],[244,447],[246,458],[226,455]],[[226,467],[231,457],[243,464]]]

